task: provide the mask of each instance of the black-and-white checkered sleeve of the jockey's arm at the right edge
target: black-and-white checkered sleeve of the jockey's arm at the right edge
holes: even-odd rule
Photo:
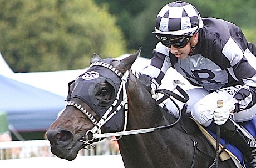
[[[240,30],[230,36],[222,53],[229,60],[230,67],[227,68],[229,74],[244,84],[234,95],[238,103],[236,110],[250,108],[256,103],[256,57],[248,48],[247,40]]]

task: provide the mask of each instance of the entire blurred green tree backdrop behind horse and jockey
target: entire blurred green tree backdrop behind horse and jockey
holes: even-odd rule
[[[16,72],[78,69],[93,53],[116,57],[142,46],[151,57],[152,30],[170,0],[0,0],[0,52]],[[201,17],[237,24],[256,44],[255,0],[187,0]],[[96,4],[97,5],[96,5]],[[127,50],[128,49],[128,50]]]

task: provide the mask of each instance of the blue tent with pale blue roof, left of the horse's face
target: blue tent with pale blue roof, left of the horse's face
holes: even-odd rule
[[[63,99],[0,75],[0,111],[7,113],[8,124],[19,132],[46,131],[65,108]]]

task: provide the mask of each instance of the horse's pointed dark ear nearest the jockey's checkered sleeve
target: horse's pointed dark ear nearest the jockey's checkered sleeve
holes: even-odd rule
[[[136,58],[140,56],[141,48],[137,50],[136,53],[120,60],[120,62],[116,65],[116,68],[120,70],[120,72],[126,72],[126,70],[129,70],[131,68],[131,65],[135,62]]]

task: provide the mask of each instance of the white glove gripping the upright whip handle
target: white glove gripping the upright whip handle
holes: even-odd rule
[[[213,119],[214,123],[217,125],[223,125],[229,118],[230,114],[233,114],[232,111],[235,109],[235,100],[227,100],[223,103],[223,106],[220,108],[216,108],[210,114],[214,115]]]

